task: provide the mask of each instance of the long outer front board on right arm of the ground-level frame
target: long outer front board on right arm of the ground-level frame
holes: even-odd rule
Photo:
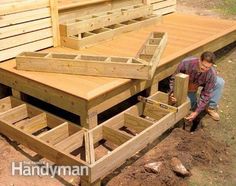
[[[107,175],[111,170],[119,167],[126,159],[153,142],[157,137],[172,127],[177,121],[175,113],[169,113],[161,120],[142,131],[139,135],[114,149],[110,154],[97,160],[91,168],[91,182]],[[101,126],[103,127],[103,126]],[[127,150],[128,149],[128,150]],[[111,162],[114,162],[111,164]],[[109,166],[107,166],[109,165]]]

